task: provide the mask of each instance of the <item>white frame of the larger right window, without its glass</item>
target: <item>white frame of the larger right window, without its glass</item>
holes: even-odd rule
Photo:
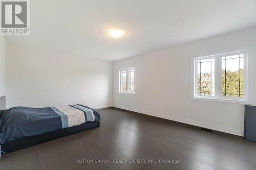
[[[194,56],[191,58],[191,100],[226,102],[238,104],[253,104],[252,102],[252,47]],[[222,96],[222,66],[221,58],[227,55],[245,53],[244,56],[244,98]],[[197,61],[215,58],[215,96],[202,96],[197,93]]]

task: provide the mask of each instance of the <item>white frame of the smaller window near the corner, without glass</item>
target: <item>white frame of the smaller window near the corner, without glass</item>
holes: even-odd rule
[[[134,69],[134,91],[130,91],[130,70],[132,70],[132,69]],[[121,90],[122,89],[121,71],[126,71],[126,89],[127,89],[126,92]],[[135,94],[135,91],[136,91],[136,68],[135,68],[135,66],[119,69],[118,73],[119,73],[119,76],[118,76],[119,94]]]

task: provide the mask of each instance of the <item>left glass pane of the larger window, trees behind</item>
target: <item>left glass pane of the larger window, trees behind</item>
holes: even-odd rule
[[[215,59],[198,61],[198,95],[215,95]]]

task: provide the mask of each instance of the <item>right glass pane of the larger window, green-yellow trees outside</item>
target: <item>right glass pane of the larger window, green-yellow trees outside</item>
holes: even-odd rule
[[[222,57],[222,95],[244,97],[244,58],[241,55]]]

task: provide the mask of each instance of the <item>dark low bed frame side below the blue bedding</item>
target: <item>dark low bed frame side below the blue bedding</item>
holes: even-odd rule
[[[24,148],[32,147],[33,145],[44,143],[50,140],[58,139],[64,136],[72,135],[78,132],[86,131],[92,128],[100,126],[100,122],[86,122],[81,125],[77,125],[70,128],[60,129],[41,135],[26,137],[23,139],[17,139],[0,145],[0,151],[2,155],[21,150]],[[1,155],[0,155],[1,159]]]

